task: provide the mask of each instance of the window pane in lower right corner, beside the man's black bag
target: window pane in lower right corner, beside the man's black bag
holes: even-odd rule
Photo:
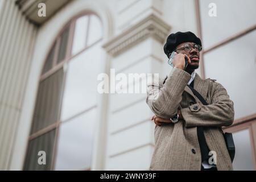
[[[236,145],[236,155],[233,160],[234,170],[255,170],[249,130],[246,129],[233,133],[233,138]]]

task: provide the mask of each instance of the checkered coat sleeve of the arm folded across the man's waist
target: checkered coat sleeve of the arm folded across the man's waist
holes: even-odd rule
[[[212,104],[193,104],[181,109],[186,127],[229,126],[234,121],[233,101],[226,89],[218,82],[213,82]]]

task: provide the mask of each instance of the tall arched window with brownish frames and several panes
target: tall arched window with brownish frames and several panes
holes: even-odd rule
[[[40,77],[24,169],[90,169],[101,45],[94,14],[77,16],[57,36]]]

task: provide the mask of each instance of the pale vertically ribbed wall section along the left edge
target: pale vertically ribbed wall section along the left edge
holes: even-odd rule
[[[0,1],[0,170],[10,166],[37,28],[14,0]]]

